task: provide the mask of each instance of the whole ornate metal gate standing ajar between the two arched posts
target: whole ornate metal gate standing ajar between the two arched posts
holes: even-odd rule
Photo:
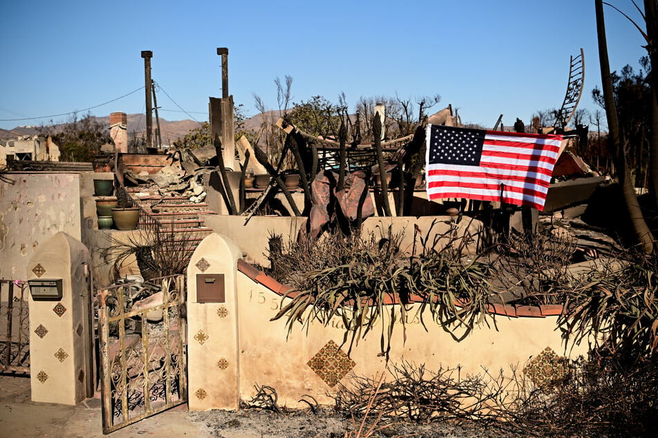
[[[99,292],[105,434],[188,401],[185,276],[149,283],[161,290],[147,308],[134,303],[137,283]]]

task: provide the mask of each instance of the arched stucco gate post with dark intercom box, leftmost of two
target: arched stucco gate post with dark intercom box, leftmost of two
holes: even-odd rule
[[[32,401],[75,405],[93,395],[90,261],[82,242],[62,231],[30,259]]]

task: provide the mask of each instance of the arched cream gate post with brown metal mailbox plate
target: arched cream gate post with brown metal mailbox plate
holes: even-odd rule
[[[188,265],[188,406],[238,409],[237,260],[240,249],[217,233]]]

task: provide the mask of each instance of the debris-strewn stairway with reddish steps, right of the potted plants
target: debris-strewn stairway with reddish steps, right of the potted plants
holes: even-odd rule
[[[189,260],[194,249],[212,233],[212,228],[205,227],[201,214],[215,214],[205,202],[194,203],[181,196],[165,196],[145,191],[143,187],[127,188],[134,202],[140,205],[153,219],[152,222],[140,220],[140,229],[150,226],[157,227],[158,232],[165,235],[164,241],[171,244],[172,249],[183,248],[183,258]],[[149,193],[144,196],[144,193]],[[139,196],[137,196],[139,193]]]

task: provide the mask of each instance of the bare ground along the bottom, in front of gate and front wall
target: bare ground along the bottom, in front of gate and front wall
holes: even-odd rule
[[[102,437],[100,394],[77,406],[30,401],[30,379],[0,374],[0,437]],[[188,412],[187,405],[138,421],[109,437],[310,438],[345,437],[358,424],[331,407],[276,413],[254,409],[237,412]],[[354,436],[354,435],[352,435]],[[468,424],[392,423],[372,437],[499,437],[500,433]]]

